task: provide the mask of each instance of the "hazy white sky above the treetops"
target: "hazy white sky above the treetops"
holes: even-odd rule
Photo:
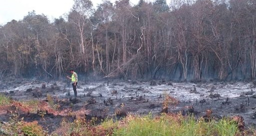
[[[6,24],[12,19],[23,19],[29,11],[36,11],[36,14],[42,14],[48,16],[50,20],[53,18],[59,18],[64,13],[68,13],[74,3],[74,0],[0,0],[0,24]],[[94,7],[97,4],[102,3],[102,0],[91,0]],[[110,0],[114,2],[116,0]],[[145,0],[155,1],[155,0]],[[130,0],[131,3],[137,4],[139,0]],[[167,4],[170,4],[170,0],[167,0]]]

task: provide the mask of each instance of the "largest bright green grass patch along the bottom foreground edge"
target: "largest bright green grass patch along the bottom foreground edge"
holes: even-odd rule
[[[193,136],[193,135],[222,135],[233,136],[239,133],[236,124],[228,119],[205,122],[194,117],[184,118],[162,115],[160,118],[152,116],[138,117],[127,122],[123,127],[115,129],[113,135],[120,136]]]

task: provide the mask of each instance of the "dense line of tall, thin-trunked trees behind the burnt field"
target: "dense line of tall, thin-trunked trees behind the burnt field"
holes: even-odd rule
[[[50,22],[29,12],[0,25],[0,77],[254,79],[256,0],[75,0]]]

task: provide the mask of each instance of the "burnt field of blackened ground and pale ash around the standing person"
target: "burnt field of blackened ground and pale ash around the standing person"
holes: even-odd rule
[[[64,118],[72,122],[77,116],[97,117],[99,123],[106,117],[119,118],[127,114],[151,112],[158,115],[163,110],[166,95],[178,101],[169,103],[168,112],[193,113],[200,117],[211,109],[220,117],[241,115],[248,127],[255,125],[256,118],[253,82],[80,81],[77,99],[74,99],[71,84],[62,81],[9,81],[1,82],[0,88],[2,93],[18,101],[1,107],[0,121],[9,121],[17,112],[25,121],[37,120],[50,132],[56,131]],[[32,110],[24,102],[33,100],[40,102]]]

